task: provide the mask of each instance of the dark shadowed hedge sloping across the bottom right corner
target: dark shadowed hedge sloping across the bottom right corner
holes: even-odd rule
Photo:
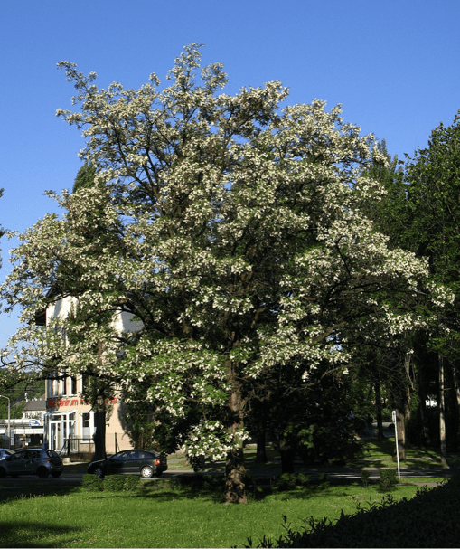
[[[418,489],[415,497],[396,501],[387,494],[380,502],[357,505],[355,515],[335,524],[310,517],[304,532],[291,529],[276,541],[264,538],[258,547],[458,547],[460,543],[460,477],[439,487]],[[248,539],[253,547],[252,540]]]

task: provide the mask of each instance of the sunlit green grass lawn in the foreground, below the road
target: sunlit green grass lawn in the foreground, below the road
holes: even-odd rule
[[[417,487],[396,487],[396,498]],[[283,515],[297,528],[309,516],[338,518],[355,501],[380,499],[376,486],[312,486],[225,506],[216,493],[147,487],[139,494],[85,492],[27,497],[1,504],[2,547],[230,547],[283,534]]]

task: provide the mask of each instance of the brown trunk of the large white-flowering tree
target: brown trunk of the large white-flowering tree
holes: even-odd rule
[[[246,469],[244,467],[243,443],[239,432],[243,429],[243,399],[237,378],[236,366],[227,361],[227,380],[230,382],[229,397],[230,433],[233,448],[227,453],[225,463],[225,492],[223,503],[248,503],[245,491]]]

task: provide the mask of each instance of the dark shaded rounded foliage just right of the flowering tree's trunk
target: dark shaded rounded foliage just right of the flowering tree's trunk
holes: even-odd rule
[[[283,364],[260,380],[264,400],[252,407],[256,426],[258,418],[267,422],[277,447],[286,444],[292,459],[297,455],[306,464],[345,462],[361,454],[355,433],[369,413],[364,392],[351,375],[324,375],[327,367],[321,364],[305,381],[303,369]]]

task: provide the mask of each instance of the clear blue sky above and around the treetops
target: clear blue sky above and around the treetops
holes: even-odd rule
[[[460,109],[458,0],[3,0],[0,5],[0,222],[23,231],[57,211],[43,196],[70,188],[83,145],[55,117],[73,88],[61,60],[137,88],[164,75],[184,44],[223,62],[228,93],[281,80],[289,103],[343,103],[343,118],[386,139],[390,154],[425,147]],[[8,250],[0,246],[9,271]],[[17,318],[0,317],[0,345]]]

